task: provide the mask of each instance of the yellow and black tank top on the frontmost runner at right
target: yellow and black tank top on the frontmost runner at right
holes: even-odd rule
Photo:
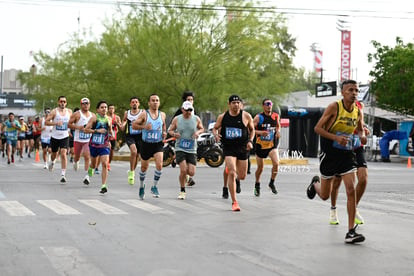
[[[338,112],[335,121],[329,127],[328,132],[335,135],[343,135],[349,137],[349,142],[346,146],[338,144],[336,141],[321,137],[321,148],[325,151],[329,151],[332,148],[339,150],[350,151],[357,147],[360,147],[361,143],[357,135],[354,135],[355,128],[357,127],[359,108],[354,106],[352,111],[348,111],[344,107],[342,100],[336,102]]]

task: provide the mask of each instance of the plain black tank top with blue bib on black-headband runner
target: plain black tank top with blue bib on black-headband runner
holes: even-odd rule
[[[236,116],[231,116],[226,111],[221,126],[221,142],[224,146],[236,148],[246,146],[249,135],[247,127],[243,123],[243,110],[240,110],[240,113]]]

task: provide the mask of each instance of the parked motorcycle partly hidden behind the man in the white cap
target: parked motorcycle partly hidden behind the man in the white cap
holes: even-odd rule
[[[176,166],[175,163],[175,138],[171,137],[164,140],[164,158],[163,167],[171,165]],[[210,167],[217,168],[224,163],[224,154],[221,144],[217,143],[214,135],[211,132],[206,132],[200,135],[197,139],[197,161],[204,158],[206,164]]]

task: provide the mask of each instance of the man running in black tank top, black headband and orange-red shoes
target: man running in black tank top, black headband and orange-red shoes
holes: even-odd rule
[[[236,198],[236,178],[243,180],[247,174],[248,151],[253,148],[255,135],[252,116],[241,109],[242,100],[231,95],[228,110],[217,117],[213,128],[216,141],[221,140],[225,165],[228,168],[227,184],[232,199],[232,210],[240,211]],[[220,130],[220,134],[218,131]]]

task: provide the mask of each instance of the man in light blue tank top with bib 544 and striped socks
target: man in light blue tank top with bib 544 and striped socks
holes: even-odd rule
[[[155,172],[154,182],[151,187],[151,193],[154,197],[160,197],[157,185],[162,174],[163,159],[163,139],[167,137],[165,125],[165,113],[159,110],[160,98],[157,94],[152,94],[148,100],[148,109],[142,112],[139,117],[132,123],[133,129],[142,130],[141,144],[141,170],[139,172],[139,198],[145,197],[145,177],[151,157],[154,157]]]

